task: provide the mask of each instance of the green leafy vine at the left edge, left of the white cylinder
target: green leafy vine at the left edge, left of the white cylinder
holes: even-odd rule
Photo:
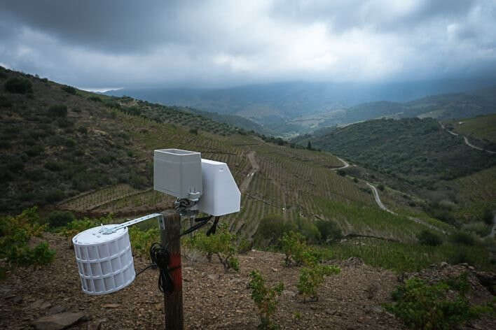
[[[11,266],[48,264],[55,251],[48,243],[40,242],[34,247],[29,243],[33,237],[41,236],[45,226],[40,224],[36,208],[29,208],[14,217],[0,218],[0,258],[5,258]]]

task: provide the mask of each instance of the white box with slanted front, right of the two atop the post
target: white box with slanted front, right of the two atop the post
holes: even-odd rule
[[[202,159],[203,195],[198,210],[220,216],[240,211],[241,193],[226,163]]]

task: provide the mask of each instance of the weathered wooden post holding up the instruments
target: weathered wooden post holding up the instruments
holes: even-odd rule
[[[181,216],[175,210],[165,210],[163,222],[160,226],[160,239],[162,245],[167,246],[170,252],[170,271],[174,292],[164,295],[165,303],[165,329],[183,330],[183,278],[181,274]],[[160,222],[160,218],[159,218]],[[176,268],[177,267],[177,268]]]

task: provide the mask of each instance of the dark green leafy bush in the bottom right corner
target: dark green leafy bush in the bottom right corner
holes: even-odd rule
[[[453,329],[478,316],[463,294],[448,298],[446,282],[427,285],[418,278],[406,280],[392,293],[395,303],[386,306],[411,329]]]

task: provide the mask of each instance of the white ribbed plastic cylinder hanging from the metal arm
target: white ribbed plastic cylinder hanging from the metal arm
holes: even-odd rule
[[[116,226],[108,224],[104,227]],[[128,228],[102,234],[102,227],[94,227],[74,236],[72,243],[85,294],[109,294],[135,280]]]

